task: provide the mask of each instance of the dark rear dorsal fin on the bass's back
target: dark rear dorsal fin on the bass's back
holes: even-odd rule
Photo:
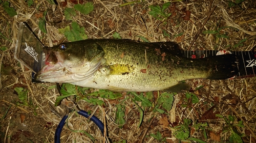
[[[154,46],[159,47],[161,52],[172,52],[174,55],[182,56],[182,49],[176,42],[154,42]]]

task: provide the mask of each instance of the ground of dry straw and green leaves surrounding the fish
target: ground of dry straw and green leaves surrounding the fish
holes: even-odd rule
[[[45,46],[82,39],[175,41],[183,50],[252,50],[254,1],[0,1],[0,142],[54,142],[65,115],[54,83],[32,83],[14,59],[19,22]],[[62,85],[112,142],[256,142],[255,77],[187,80],[188,93],[113,93]],[[91,134],[92,137],[88,136]],[[71,112],[61,142],[109,142]]]

